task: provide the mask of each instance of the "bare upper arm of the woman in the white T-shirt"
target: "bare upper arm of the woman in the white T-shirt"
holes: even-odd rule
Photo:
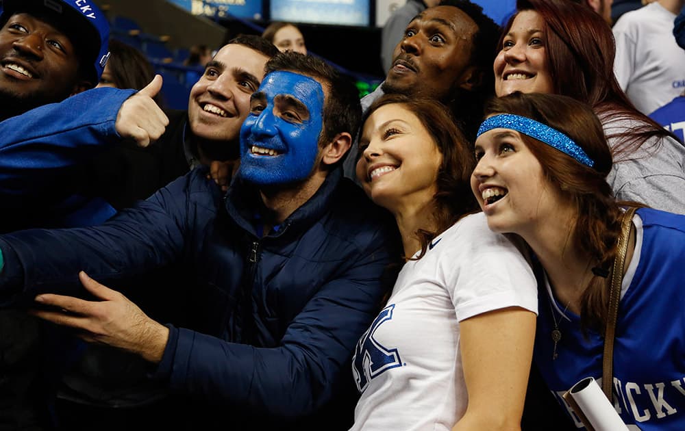
[[[536,315],[508,307],[460,322],[469,405],[453,431],[521,430]]]

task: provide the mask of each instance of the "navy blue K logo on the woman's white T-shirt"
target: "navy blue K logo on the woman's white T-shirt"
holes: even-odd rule
[[[383,374],[388,369],[402,366],[397,349],[388,349],[373,337],[379,326],[393,319],[394,309],[395,304],[382,309],[371,324],[371,328],[362,335],[354,350],[352,372],[360,393],[369,386],[369,380],[372,378]]]

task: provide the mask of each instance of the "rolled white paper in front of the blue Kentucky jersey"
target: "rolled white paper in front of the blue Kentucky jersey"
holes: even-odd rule
[[[628,431],[628,427],[594,378],[580,380],[573,385],[569,393],[595,431]]]

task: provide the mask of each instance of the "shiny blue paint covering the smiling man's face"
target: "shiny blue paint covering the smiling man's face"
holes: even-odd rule
[[[278,71],[266,75],[252,97],[250,114],[240,128],[240,174],[258,185],[306,179],[319,155],[321,84]]]

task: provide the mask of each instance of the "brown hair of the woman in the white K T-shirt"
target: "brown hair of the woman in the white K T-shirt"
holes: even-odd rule
[[[471,143],[464,138],[457,122],[448,114],[449,109],[436,100],[409,97],[404,94],[385,94],[371,104],[364,114],[362,124],[379,107],[393,104],[402,105],[419,118],[421,125],[443,155],[436,179],[438,191],[433,196],[436,203],[433,217],[438,227],[435,231],[416,231],[421,243],[421,252],[416,257],[418,260],[423,257],[430,241],[437,235],[464,215],[477,211],[478,205],[471,192],[470,183],[475,159]]]

